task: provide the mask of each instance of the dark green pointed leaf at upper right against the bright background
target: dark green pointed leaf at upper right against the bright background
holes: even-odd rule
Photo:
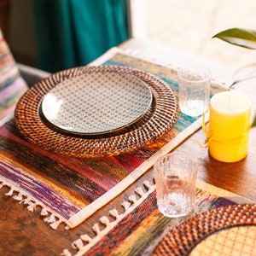
[[[241,28],[230,28],[214,35],[229,44],[235,44],[248,49],[256,49],[256,31]]]

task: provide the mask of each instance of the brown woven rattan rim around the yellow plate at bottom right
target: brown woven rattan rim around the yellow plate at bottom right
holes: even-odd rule
[[[153,255],[189,255],[208,236],[238,226],[256,225],[256,204],[238,204],[201,212],[169,230]]]

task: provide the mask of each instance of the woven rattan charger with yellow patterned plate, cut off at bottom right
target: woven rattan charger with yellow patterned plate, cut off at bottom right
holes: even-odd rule
[[[153,255],[234,255],[234,250],[236,255],[255,255],[255,225],[255,204],[233,205],[201,212],[168,231]],[[240,232],[237,229],[241,229]],[[222,236],[216,239],[222,232],[231,230],[236,230],[234,237],[229,233],[226,238]],[[212,236],[216,237],[211,241]],[[241,253],[238,253],[237,248]]]

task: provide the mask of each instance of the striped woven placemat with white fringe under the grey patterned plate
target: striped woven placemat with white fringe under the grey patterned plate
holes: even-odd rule
[[[137,67],[164,79],[177,90],[176,73],[166,67],[135,59],[123,53],[108,55],[104,65]],[[212,84],[212,90],[220,90]],[[214,92],[213,92],[214,93]],[[54,229],[67,228],[108,204],[138,177],[201,127],[201,119],[180,114],[173,129],[147,147],[127,154],[95,159],[63,156],[38,148],[22,137],[10,121],[0,128],[0,188],[27,206],[41,207],[44,220]]]

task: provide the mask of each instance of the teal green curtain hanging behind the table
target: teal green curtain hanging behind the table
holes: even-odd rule
[[[55,73],[93,61],[128,38],[126,0],[33,0],[38,67]]]

